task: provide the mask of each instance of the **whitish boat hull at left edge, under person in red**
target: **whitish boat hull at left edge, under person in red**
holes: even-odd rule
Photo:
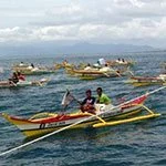
[[[49,82],[48,79],[41,79],[39,81],[19,81],[13,83],[11,81],[0,81],[0,87],[24,87],[24,86],[42,86]]]

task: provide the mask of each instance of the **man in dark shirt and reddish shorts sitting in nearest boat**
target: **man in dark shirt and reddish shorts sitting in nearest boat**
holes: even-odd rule
[[[95,112],[94,103],[95,103],[95,97],[92,96],[91,90],[87,90],[86,91],[86,97],[81,103],[81,111],[83,113],[89,112],[89,113],[94,114],[94,112]]]

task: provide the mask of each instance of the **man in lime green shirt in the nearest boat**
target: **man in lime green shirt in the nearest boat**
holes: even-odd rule
[[[106,94],[103,93],[102,87],[97,87],[96,93],[98,95],[96,103],[105,104],[105,105],[111,104],[111,98]]]

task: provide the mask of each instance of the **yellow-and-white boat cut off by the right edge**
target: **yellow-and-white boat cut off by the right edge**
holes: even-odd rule
[[[131,83],[134,86],[146,85],[164,85],[166,83],[166,74],[159,74],[158,76],[131,76],[126,83]]]

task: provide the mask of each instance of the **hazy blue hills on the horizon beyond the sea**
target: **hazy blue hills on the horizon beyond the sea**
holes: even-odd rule
[[[55,55],[55,54],[97,54],[97,53],[124,53],[124,52],[144,52],[155,51],[156,49],[149,45],[133,45],[133,44],[93,44],[93,43],[76,43],[76,44],[58,44],[55,42],[40,42],[29,44],[8,43],[0,44],[0,56],[3,55]]]

